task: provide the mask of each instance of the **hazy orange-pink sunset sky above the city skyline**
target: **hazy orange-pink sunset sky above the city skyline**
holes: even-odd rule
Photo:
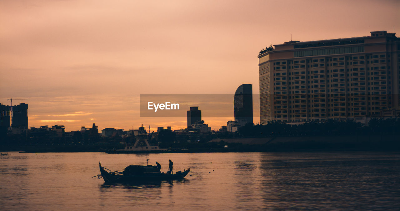
[[[29,105],[29,127],[185,128],[140,117],[140,94],[258,94],[262,48],[397,32],[399,11],[398,0],[2,0],[0,103],[30,99],[13,100]],[[233,119],[233,102],[232,117],[203,118]]]

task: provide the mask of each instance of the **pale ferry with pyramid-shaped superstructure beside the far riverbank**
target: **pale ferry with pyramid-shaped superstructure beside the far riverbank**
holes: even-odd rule
[[[153,131],[154,132],[154,131]],[[149,131],[150,133],[150,131]],[[114,154],[114,153],[161,153],[166,152],[167,149],[162,149],[159,146],[150,145],[149,141],[151,140],[153,133],[147,133],[146,129],[139,127],[138,134],[135,137],[135,143],[125,143],[124,149],[116,149],[116,150],[107,150],[106,153]],[[133,137],[133,136],[132,136]]]

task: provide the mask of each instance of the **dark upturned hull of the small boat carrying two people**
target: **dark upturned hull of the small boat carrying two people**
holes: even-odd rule
[[[107,172],[104,167],[100,166],[100,173],[106,183],[115,183],[115,182],[136,182],[136,181],[162,181],[162,180],[177,180],[183,179],[190,171],[187,169],[182,173],[175,173],[175,174],[163,174],[163,173],[152,173],[148,175],[140,175],[140,176],[126,176],[120,174],[113,174]]]

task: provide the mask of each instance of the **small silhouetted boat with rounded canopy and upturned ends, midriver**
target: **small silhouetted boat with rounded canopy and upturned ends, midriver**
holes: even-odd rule
[[[176,173],[161,173],[157,167],[152,165],[129,165],[122,172],[111,171],[106,167],[100,166],[100,174],[94,177],[103,178],[106,183],[114,182],[136,182],[136,181],[161,181],[183,179],[188,175],[190,169],[177,171]],[[108,170],[108,171],[106,171]]]

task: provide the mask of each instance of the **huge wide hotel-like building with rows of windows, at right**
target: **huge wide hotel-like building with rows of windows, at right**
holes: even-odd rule
[[[400,38],[370,33],[263,49],[260,122],[357,120],[398,108]]]

